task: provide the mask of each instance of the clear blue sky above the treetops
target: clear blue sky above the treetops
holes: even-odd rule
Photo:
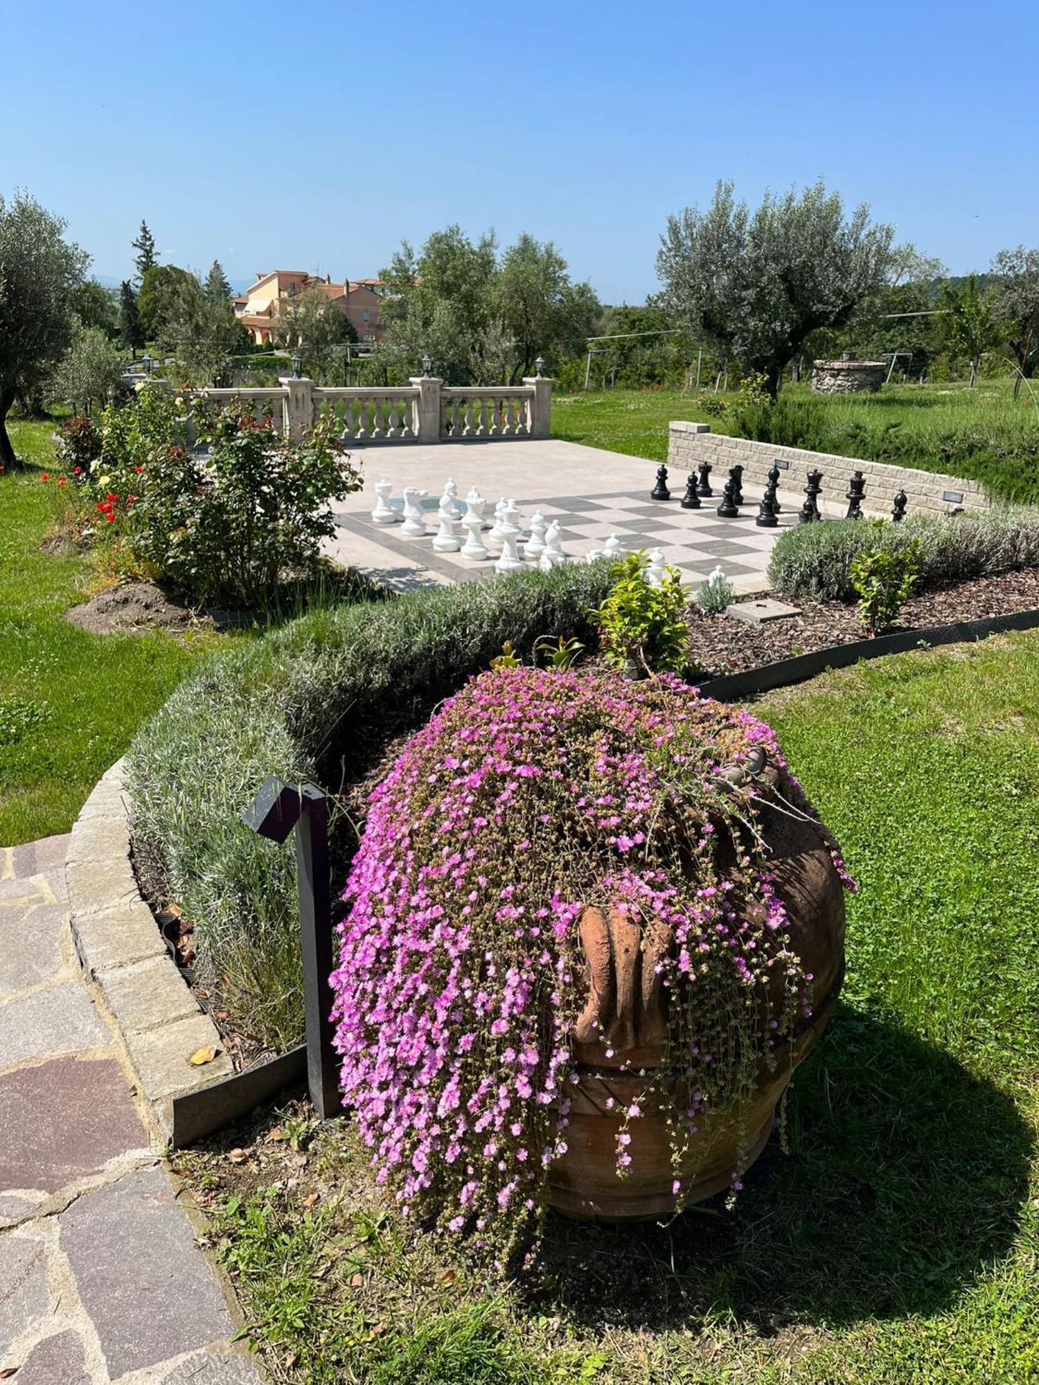
[[[94,273],[359,277],[459,222],[641,302],[669,212],[817,177],[953,273],[1039,244],[1039,6],[0,0],[0,193]]]

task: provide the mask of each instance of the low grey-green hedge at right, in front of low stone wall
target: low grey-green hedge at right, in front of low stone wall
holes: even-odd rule
[[[903,551],[918,542],[917,591],[935,591],[971,578],[1039,565],[1039,510],[1013,507],[963,515],[912,515],[885,525],[882,547]],[[790,597],[852,601],[852,562],[876,546],[860,519],[802,524],[772,550],[769,580]]]

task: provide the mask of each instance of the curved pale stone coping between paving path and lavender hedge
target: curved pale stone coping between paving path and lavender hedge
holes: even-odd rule
[[[141,897],[130,859],[130,799],[123,760],[83,805],[65,856],[72,938],[85,974],[100,988],[119,1026],[141,1096],[166,1140],[173,1098],[226,1078],[234,1066],[216,1025],[169,956]],[[198,1048],[216,1057],[193,1066]]]

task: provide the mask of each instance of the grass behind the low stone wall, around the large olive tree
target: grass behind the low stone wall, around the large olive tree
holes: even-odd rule
[[[1035,386],[1033,386],[1035,388]],[[557,395],[551,428],[556,438],[664,461],[668,424],[684,418],[713,432],[759,436],[741,429],[734,395],[720,396],[729,410],[708,417],[694,395],[618,389],[608,393]],[[762,438],[838,456],[888,461],[924,471],[970,476],[993,493],[1039,501],[1039,391],[985,379],[966,385],[885,385],[877,395],[820,396],[808,385],[784,385],[774,435]],[[767,428],[766,428],[767,431]]]

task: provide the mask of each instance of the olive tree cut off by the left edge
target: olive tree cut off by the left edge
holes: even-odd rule
[[[64,238],[66,222],[29,197],[0,197],[0,463],[18,465],[7,414],[39,389],[72,341],[72,295],[90,263]]]

